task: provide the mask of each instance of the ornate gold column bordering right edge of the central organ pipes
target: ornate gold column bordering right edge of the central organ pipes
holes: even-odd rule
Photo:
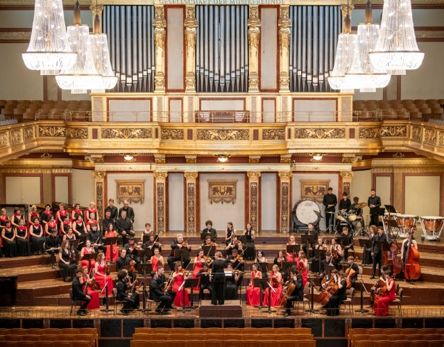
[[[249,6],[248,26],[248,90],[257,91],[259,88],[259,37],[261,35],[261,22],[259,19],[259,6]]]

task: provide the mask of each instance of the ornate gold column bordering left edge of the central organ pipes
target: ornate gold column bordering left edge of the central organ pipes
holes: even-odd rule
[[[187,92],[196,91],[196,28],[198,27],[195,6],[187,6],[187,17],[185,18],[185,84]]]

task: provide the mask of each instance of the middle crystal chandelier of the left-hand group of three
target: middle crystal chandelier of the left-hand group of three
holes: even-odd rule
[[[74,25],[68,26],[68,42],[78,52],[76,63],[70,69],[60,71],[56,76],[57,84],[72,94],[84,94],[88,89],[96,89],[101,83],[101,76],[92,59],[89,27],[80,23],[80,4],[74,6]]]

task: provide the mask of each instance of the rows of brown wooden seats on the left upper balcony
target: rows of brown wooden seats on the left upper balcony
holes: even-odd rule
[[[16,122],[52,119],[88,121],[91,101],[0,100],[0,115]],[[4,125],[4,124],[0,124]]]

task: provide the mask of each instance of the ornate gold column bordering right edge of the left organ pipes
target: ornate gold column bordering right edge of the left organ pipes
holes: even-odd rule
[[[165,28],[167,19],[164,15],[164,6],[155,6],[154,42],[155,42],[155,92],[165,90]]]

